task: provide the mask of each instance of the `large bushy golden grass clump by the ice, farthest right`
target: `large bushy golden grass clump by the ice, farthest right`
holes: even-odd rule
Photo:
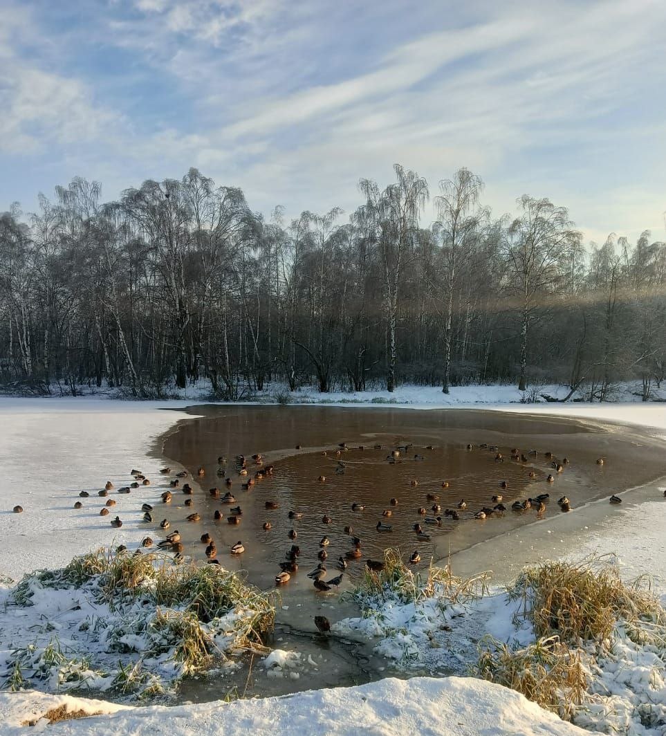
[[[537,637],[558,634],[566,642],[609,639],[618,619],[664,625],[666,615],[652,595],[647,578],[631,586],[617,567],[592,557],[578,565],[545,562],[524,570],[511,590],[522,598],[522,615],[531,620]]]

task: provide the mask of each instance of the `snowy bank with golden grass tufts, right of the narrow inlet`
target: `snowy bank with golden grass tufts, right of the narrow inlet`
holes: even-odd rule
[[[665,736],[666,612],[611,561],[546,562],[490,591],[486,576],[414,573],[389,550],[353,592],[363,616],[333,629],[397,668],[472,673],[592,731]]]

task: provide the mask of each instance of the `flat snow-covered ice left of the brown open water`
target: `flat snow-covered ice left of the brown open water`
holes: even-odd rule
[[[82,398],[0,398],[0,467],[3,475],[0,539],[11,548],[0,553],[0,574],[18,579],[30,570],[61,567],[77,554],[102,545],[136,544],[144,536],[144,500],[155,489],[113,494],[119,529],[100,517],[104,500],[97,491],[111,481],[130,484],[138,467],[153,482],[161,464],[149,457],[154,439],[185,415],[180,402],[128,402]],[[169,406],[171,411],[163,411]],[[91,493],[79,498],[79,490]],[[80,500],[83,508],[75,510]],[[22,514],[12,509],[20,504]]]

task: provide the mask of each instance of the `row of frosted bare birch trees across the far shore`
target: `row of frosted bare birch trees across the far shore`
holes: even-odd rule
[[[666,244],[584,247],[567,209],[524,196],[493,218],[467,169],[431,193],[395,166],[360,205],[285,222],[191,169],[102,203],[82,179],[0,215],[0,379],[161,396],[200,379],[235,399],[272,381],[323,392],[547,382],[605,400],[666,367]]]

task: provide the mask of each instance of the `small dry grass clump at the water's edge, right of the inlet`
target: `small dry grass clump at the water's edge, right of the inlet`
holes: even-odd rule
[[[372,573],[366,568],[365,576],[358,588],[363,597],[397,595],[401,601],[417,602],[434,595],[447,598],[451,603],[469,603],[481,598],[487,591],[488,574],[472,578],[458,578],[449,565],[428,567],[427,571],[414,573],[405,565],[400,550],[389,548],[384,551],[384,569]]]

